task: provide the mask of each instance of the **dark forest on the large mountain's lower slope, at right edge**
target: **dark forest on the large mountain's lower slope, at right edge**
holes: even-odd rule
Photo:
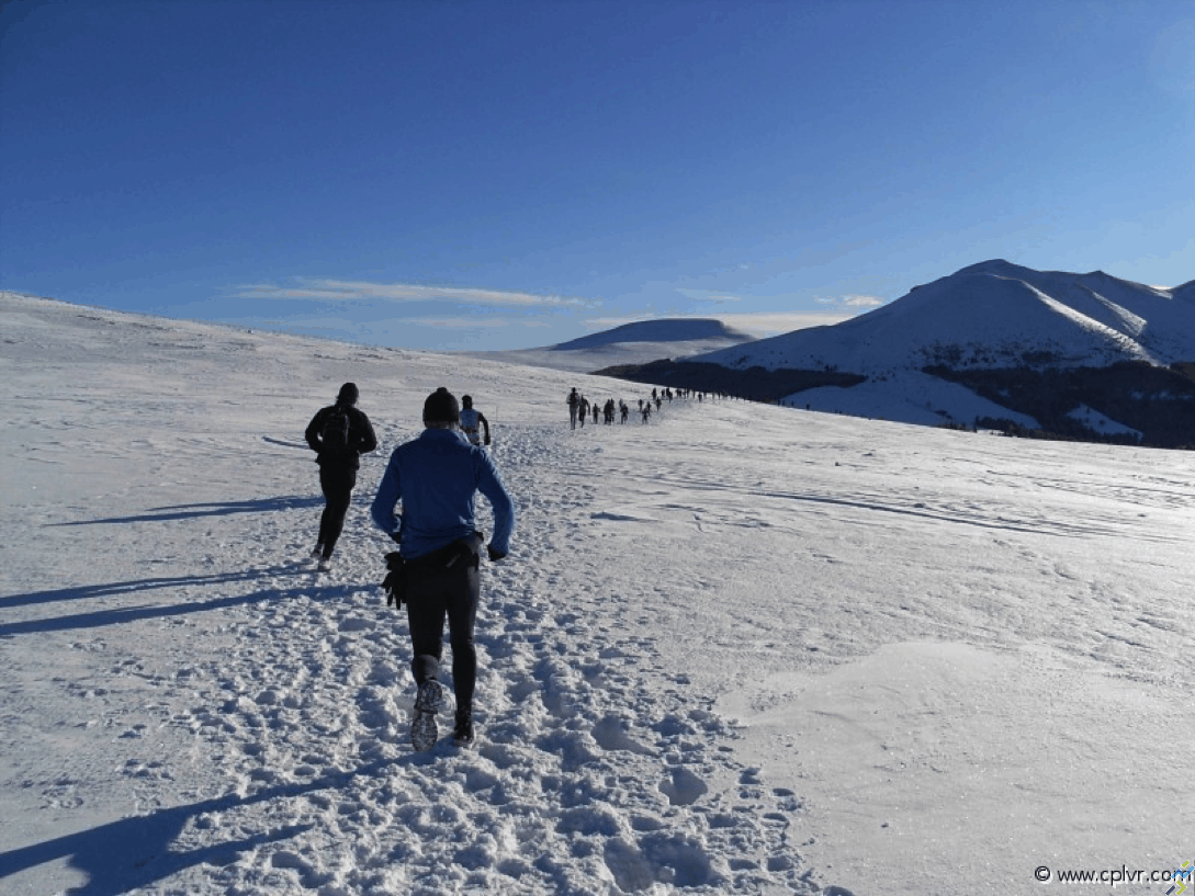
[[[1029,415],[1041,424],[1041,429],[1034,430],[1007,419],[976,421],[985,429],[1024,438],[1195,450],[1195,379],[1181,364],[1168,369],[1144,361],[1123,361],[1110,367],[955,370],[938,364],[923,369]],[[1140,431],[1141,441],[1130,435],[1093,432],[1068,417],[1080,404]]]

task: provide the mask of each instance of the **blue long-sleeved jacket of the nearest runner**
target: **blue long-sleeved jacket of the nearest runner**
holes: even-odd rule
[[[478,491],[494,509],[490,547],[510,553],[515,508],[490,455],[456,430],[425,429],[390,456],[369,514],[379,529],[398,533],[399,551],[410,560],[473,532]],[[402,516],[394,513],[399,501]]]

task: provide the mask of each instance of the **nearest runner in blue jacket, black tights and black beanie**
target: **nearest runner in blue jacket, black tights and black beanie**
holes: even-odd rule
[[[456,695],[456,743],[473,741],[473,688],[477,650],[473,626],[480,597],[482,534],[474,520],[479,491],[494,509],[494,538],[488,553],[498,561],[510,551],[514,503],[494,460],[484,448],[461,435],[460,405],[446,388],[423,404],[424,431],[394,449],[386,466],[370,515],[374,524],[399,544],[404,564],[407,624],[418,685],[411,742],[430,749],[437,737],[435,713],[443,705],[437,676],[443,651],[445,618],[453,656]],[[396,513],[403,503],[403,513]]]

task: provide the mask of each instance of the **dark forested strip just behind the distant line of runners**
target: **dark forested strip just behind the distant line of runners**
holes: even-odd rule
[[[734,395],[752,401],[779,401],[793,392],[817,386],[857,386],[868,379],[858,374],[828,370],[765,370],[762,367],[731,370],[705,361],[670,358],[646,364],[617,364],[596,370],[595,374],[652,386]]]

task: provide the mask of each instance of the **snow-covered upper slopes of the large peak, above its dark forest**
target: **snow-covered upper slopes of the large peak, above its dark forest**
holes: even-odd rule
[[[917,287],[876,311],[700,356],[736,369],[798,368],[877,374],[1004,368],[1024,363],[1104,367],[1195,358],[1195,282],[1147,287],[1102,271],[1035,271],[983,262]]]

